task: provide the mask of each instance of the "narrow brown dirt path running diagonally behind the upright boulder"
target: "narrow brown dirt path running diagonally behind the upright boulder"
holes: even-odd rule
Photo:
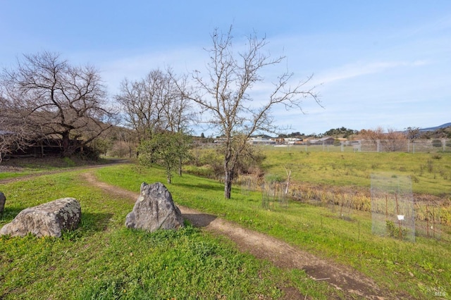
[[[139,194],[99,182],[92,173],[83,173],[82,177],[90,185],[104,189],[111,194],[121,195],[133,203]],[[323,280],[336,289],[342,290],[350,298],[361,299],[396,299],[394,295],[382,291],[376,282],[345,265],[318,258],[306,251],[297,249],[273,237],[247,230],[215,215],[195,211],[191,208],[178,206],[183,217],[197,226],[217,235],[223,235],[235,242],[241,251],[247,251],[257,258],[271,261],[280,268],[298,268],[305,270],[314,280]],[[297,290],[284,291],[288,299],[304,299]]]

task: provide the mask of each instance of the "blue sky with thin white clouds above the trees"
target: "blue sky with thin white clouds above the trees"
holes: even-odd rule
[[[0,2],[0,68],[22,54],[60,53],[96,66],[111,95],[127,77],[170,66],[203,70],[214,28],[234,43],[266,35],[297,80],[314,75],[323,108],[275,109],[287,132],[403,130],[451,122],[451,1]],[[257,94],[256,94],[257,95]],[[257,101],[258,99],[256,99]],[[202,132],[202,129],[197,129]]]

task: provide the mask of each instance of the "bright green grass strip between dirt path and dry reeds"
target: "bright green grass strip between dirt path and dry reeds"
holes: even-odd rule
[[[103,168],[97,175],[102,181],[135,192],[142,181],[163,182],[165,178],[159,168],[135,165]],[[351,265],[394,293],[428,298],[428,293],[435,288],[449,289],[449,242],[417,237],[413,244],[374,236],[369,213],[354,212],[350,220],[343,220],[326,208],[299,202],[267,211],[261,208],[259,192],[242,194],[235,187],[233,199],[226,200],[223,185],[192,175],[174,177],[168,189],[178,204],[213,213],[324,258]],[[450,293],[447,290],[448,296]]]

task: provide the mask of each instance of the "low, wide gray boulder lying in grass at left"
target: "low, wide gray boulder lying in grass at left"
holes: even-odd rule
[[[78,227],[82,208],[75,198],[57,199],[20,211],[11,223],[4,225],[0,235],[23,237],[28,233],[37,237],[61,237],[62,230]]]

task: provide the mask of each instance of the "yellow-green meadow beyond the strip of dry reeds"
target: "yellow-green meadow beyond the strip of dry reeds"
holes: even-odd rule
[[[372,173],[412,177],[416,193],[451,196],[451,154],[305,152],[302,146],[264,147],[266,173],[318,185],[370,187]]]

